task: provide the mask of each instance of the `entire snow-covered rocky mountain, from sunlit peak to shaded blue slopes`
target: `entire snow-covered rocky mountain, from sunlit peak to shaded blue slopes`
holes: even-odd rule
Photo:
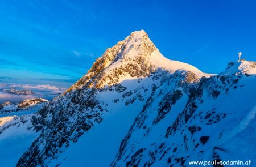
[[[0,143],[11,143],[11,151],[3,149],[0,161],[6,166],[253,161],[255,92],[256,62],[231,62],[218,75],[205,74],[163,57],[146,32],[136,31],[38,112],[1,118]],[[17,138],[20,149],[12,145]],[[19,160],[10,156],[16,149]]]

